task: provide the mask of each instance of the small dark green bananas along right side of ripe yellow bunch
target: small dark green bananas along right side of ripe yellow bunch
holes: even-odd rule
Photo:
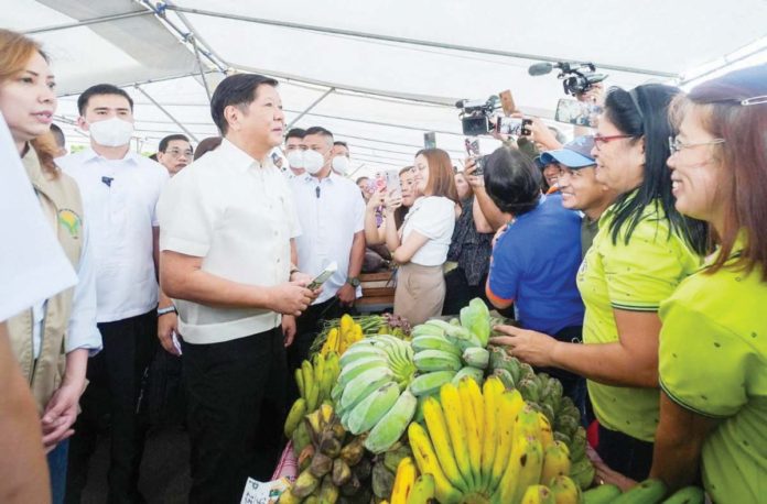
[[[529,364],[510,357],[504,349],[489,347],[491,375],[507,388],[516,388],[522,398],[541,412],[554,430],[554,439],[564,442],[570,450],[572,469],[570,476],[582,489],[591,486],[594,465],[586,457],[586,431],[581,426],[581,413],[570,397],[562,395],[559,380],[545,373],[534,373]]]

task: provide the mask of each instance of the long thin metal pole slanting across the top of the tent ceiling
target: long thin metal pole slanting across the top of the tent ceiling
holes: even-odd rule
[[[203,10],[203,9],[190,9],[190,8],[176,7],[176,6],[168,6],[168,9],[173,10],[173,11],[177,11],[177,12],[188,13],[188,14],[208,15],[208,17],[213,17],[213,18],[223,18],[223,19],[229,19],[229,20],[235,20],[235,21],[247,21],[250,23],[268,24],[268,25],[272,25],[272,26],[290,28],[290,29],[294,29],[294,30],[303,30],[303,31],[317,32],[317,33],[331,33],[334,35],[355,36],[358,39],[372,39],[372,40],[385,41],[385,42],[395,42],[395,43],[399,43],[399,44],[421,45],[421,46],[435,47],[435,48],[442,48],[442,50],[462,51],[462,52],[476,53],[476,54],[488,54],[488,55],[493,55],[493,56],[506,56],[506,57],[514,57],[514,58],[519,58],[519,59],[534,59],[534,61],[539,61],[539,62],[555,63],[555,62],[560,62],[560,61],[566,61],[566,58],[554,58],[551,56],[542,56],[542,55],[537,55],[537,54],[514,53],[510,51],[490,50],[490,48],[486,48],[486,47],[471,47],[471,46],[466,46],[466,45],[449,44],[445,42],[421,41],[421,40],[417,40],[417,39],[407,39],[407,37],[402,37],[402,36],[381,35],[381,34],[377,34],[377,33],[356,32],[353,30],[341,30],[341,29],[336,29],[336,28],[315,26],[315,25],[311,25],[311,24],[291,23],[291,22],[287,22],[287,21],[274,21],[274,20],[268,20],[268,19],[262,19],[262,18],[252,18],[252,17],[248,17],[248,15],[227,14],[224,12],[214,12],[214,11],[207,11],[207,10]],[[575,63],[586,63],[586,62],[575,62]],[[631,74],[645,74],[645,75],[668,77],[668,78],[679,77],[677,74],[671,74],[668,72],[657,72],[657,70],[646,69],[646,68],[630,68],[630,67],[618,66],[618,65],[607,65],[607,64],[602,64],[602,63],[596,63],[596,62],[588,62],[588,63],[594,63],[594,65],[596,65],[598,68],[615,70],[615,72],[628,72]]]

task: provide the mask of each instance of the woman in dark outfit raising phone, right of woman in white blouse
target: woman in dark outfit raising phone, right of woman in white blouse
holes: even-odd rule
[[[474,198],[474,189],[464,172],[455,174],[461,215],[455,221],[447,261],[456,267],[445,274],[445,303],[442,315],[457,314],[475,297],[485,298],[485,282],[490,267],[493,227]]]

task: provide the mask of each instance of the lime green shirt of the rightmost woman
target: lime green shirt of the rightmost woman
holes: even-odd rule
[[[712,498],[764,502],[767,283],[761,267],[750,274],[705,270],[682,282],[660,307],[660,386],[680,406],[721,419],[703,443],[703,482]]]

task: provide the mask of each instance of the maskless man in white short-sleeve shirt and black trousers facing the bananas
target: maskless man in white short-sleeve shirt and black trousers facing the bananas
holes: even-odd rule
[[[284,128],[276,86],[245,74],[218,85],[210,111],[222,145],[173,177],[158,205],[161,285],[179,309],[188,398],[190,502],[238,502],[248,476],[271,476],[284,347],[316,297],[292,264],[300,227],[269,156]]]

